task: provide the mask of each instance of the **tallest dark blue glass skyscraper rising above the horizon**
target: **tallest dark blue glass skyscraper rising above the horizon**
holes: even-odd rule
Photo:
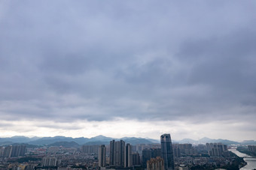
[[[174,160],[172,151],[172,139],[170,134],[163,134],[160,136],[161,140],[161,154],[164,160],[164,169],[173,170]]]

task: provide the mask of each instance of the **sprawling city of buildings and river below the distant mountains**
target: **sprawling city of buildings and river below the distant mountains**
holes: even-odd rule
[[[245,141],[247,144],[232,144],[228,140],[223,140],[224,143],[178,143],[172,142],[171,135],[165,133],[160,136],[159,142],[105,136],[96,136],[94,142],[84,145],[67,142],[70,138],[63,136],[43,138],[41,141],[44,144],[38,145],[35,144],[40,139],[17,142],[25,138],[16,136],[16,142],[9,141],[9,144],[5,140],[10,139],[1,139],[0,169],[236,170],[254,169],[256,161],[256,141]],[[111,141],[108,142],[109,139]]]

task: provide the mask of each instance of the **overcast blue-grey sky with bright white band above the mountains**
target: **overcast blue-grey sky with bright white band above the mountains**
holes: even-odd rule
[[[0,137],[256,140],[255,11],[0,0]]]

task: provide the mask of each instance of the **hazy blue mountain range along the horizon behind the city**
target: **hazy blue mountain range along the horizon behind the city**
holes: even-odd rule
[[[71,138],[66,136],[54,136],[54,137],[33,137],[29,138],[26,136],[13,136],[11,138],[0,138],[0,145],[13,145],[14,143],[26,143],[29,145],[60,145],[61,142],[63,145],[69,145],[70,142],[75,142],[78,145],[108,145],[111,140],[114,138],[110,138],[107,136],[95,136],[90,139],[80,137],[80,138]],[[157,139],[145,139],[145,138],[136,138],[136,137],[123,137],[121,138],[126,143],[130,143],[131,145],[137,145],[137,144],[153,144],[153,143],[160,143],[160,140]],[[120,140],[120,139],[115,139]],[[205,144],[205,143],[218,143],[221,142],[225,145],[232,145],[232,144],[239,144],[239,142],[230,141],[227,139],[209,139],[209,138],[202,138],[200,140],[194,140],[194,139],[182,139],[182,140],[173,140],[173,143],[190,143],[190,144]],[[241,142],[240,144],[243,145],[256,145],[256,141],[249,140]],[[74,144],[75,146],[75,144]]]

